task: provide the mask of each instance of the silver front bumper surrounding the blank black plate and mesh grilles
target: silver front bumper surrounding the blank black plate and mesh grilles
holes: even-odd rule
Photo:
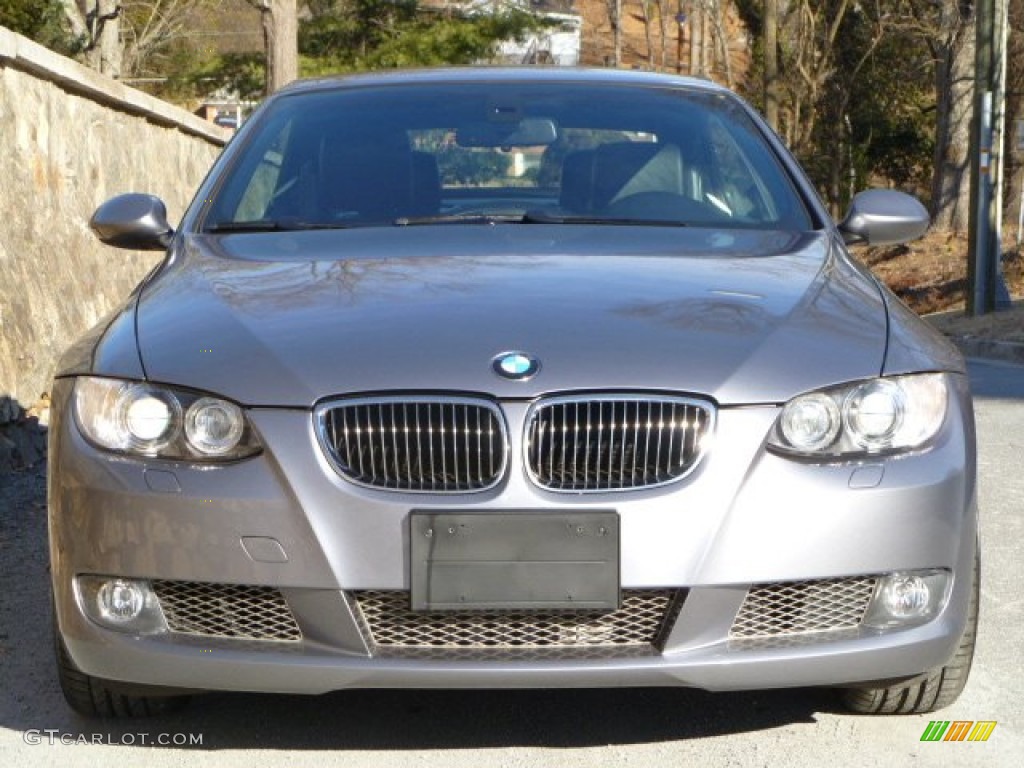
[[[965,385],[966,387],[966,385]],[[974,434],[966,389],[926,454],[815,466],[763,449],[777,410],[723,410],[712,452],[685,481],[627,494],[545,493],[517,471],[480,494],[407,496],[359,488],[327,465],[308,412],[251,418],[267,451],[234,465],[112,458],[67,418],[54,388],[50,547],[57,620],[84,672],[183,688],[321,693],[350,687],[599,687],[709,690],[834,685],[944,664],[967,622],[976,546]],[[503,403],[516,434],[527,406]],[[461,512],[613,509],[624,589],[687,590],[649,652],[474,657],[379,653],[346,595],[408,590],[413,509]],[[263,544],[253,545],[253,542]],[[751,585],[944,568],[952,587],[925,625],[864,627],[771,643],[730,629]],[[82,611],[75,577],[258,585],[281,591],[298,642],[103,629]]]

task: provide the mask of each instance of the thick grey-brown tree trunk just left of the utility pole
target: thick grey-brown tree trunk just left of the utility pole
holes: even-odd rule
[[[974,95],[975,19],[961,15],[958,0],[942,0],[935,68],[935,173],[932,221],[966,232],[970,215],[971,115]]]

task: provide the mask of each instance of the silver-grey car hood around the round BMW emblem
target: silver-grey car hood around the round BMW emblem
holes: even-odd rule
[[[734,404],[878,375],[886,310],[820,232],[438,225],[185,236],[137,329],[150,379],[251,406],[571,389]],[[508,350],[540,373],[497,376]]]

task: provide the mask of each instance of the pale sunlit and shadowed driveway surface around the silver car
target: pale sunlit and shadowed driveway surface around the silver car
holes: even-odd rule
[[[976,364],[972,374],[981,628],[964,696],[935,717],[997,721],[987,742],[923,743],[932,718],[845,715],[821,690],[218,693],[173,717],[82,720],[66,708],[52,669],[45,477],[36,471],[0,476],[0,764],[1016,766],[1024,755],[1024,369]]]

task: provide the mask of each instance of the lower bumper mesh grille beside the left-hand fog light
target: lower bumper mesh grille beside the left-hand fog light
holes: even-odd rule
[[[171,632],[296,642],[302,632],[272,587],[200,582],[153,583]]]

